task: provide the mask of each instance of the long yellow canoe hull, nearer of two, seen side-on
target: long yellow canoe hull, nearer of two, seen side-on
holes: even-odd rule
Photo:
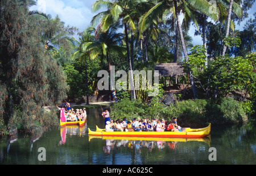
[[[125,136],[125,137],[144,137],[144,138],[203,138],[210,134],[210,124],[205,128],[185,128],[185,131],[104,131],[103,129],[97,128],[96,131],[91,131],[88,128],[89,135],[96,136]]]

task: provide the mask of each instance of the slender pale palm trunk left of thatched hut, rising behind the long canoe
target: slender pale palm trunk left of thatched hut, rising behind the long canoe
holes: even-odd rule
[[[130,85],[131,85],[131,100],[133,100],[133,99],[136,99],[135,89],[134,89],[134,79],[133,79],[133,67],[131,66],[127,24],[125,23],[124,25],[125,25],[125,42],[126,42],[127,58],[129,59],[129,67],[130,67],[130,78],[131,78],[131,80],[129,80],[129,82],[130,82]]]

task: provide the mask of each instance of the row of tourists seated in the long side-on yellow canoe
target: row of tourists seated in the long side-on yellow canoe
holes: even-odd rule
[[[174,117],[167,123],[166,120],[160,119],[141,119],[134,118],[132,121],[117,119],[114,121],[106,121],[105,131],[181,131],[181,127],[177,125],[177,118]]]

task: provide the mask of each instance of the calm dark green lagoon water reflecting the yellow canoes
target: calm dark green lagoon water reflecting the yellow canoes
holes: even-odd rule
[[[205,139],[118,139],[88,136],[88,127],[104,128],[101,109],[88,109],[83,127],[53,128],[43,134],[0,139],[0,164],[28,165],[159,165],[159,164],[256,164],[255,122],[214,127]],[[39,161],[38,149],[46,149]],[[209,161],[209,148],[216,160]]]

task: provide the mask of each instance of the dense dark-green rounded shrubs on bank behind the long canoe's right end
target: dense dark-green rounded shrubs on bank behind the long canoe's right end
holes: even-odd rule
[[[209,123],[221,125],[246,121],[247,115],[240,102],[231,98],[220,98],[218,100],[186,100],[176,102],[170,106],[165,114],[170,118],[179,118],[182,126],[205,126]],[[166,115],[165,115],[166,117]]]

